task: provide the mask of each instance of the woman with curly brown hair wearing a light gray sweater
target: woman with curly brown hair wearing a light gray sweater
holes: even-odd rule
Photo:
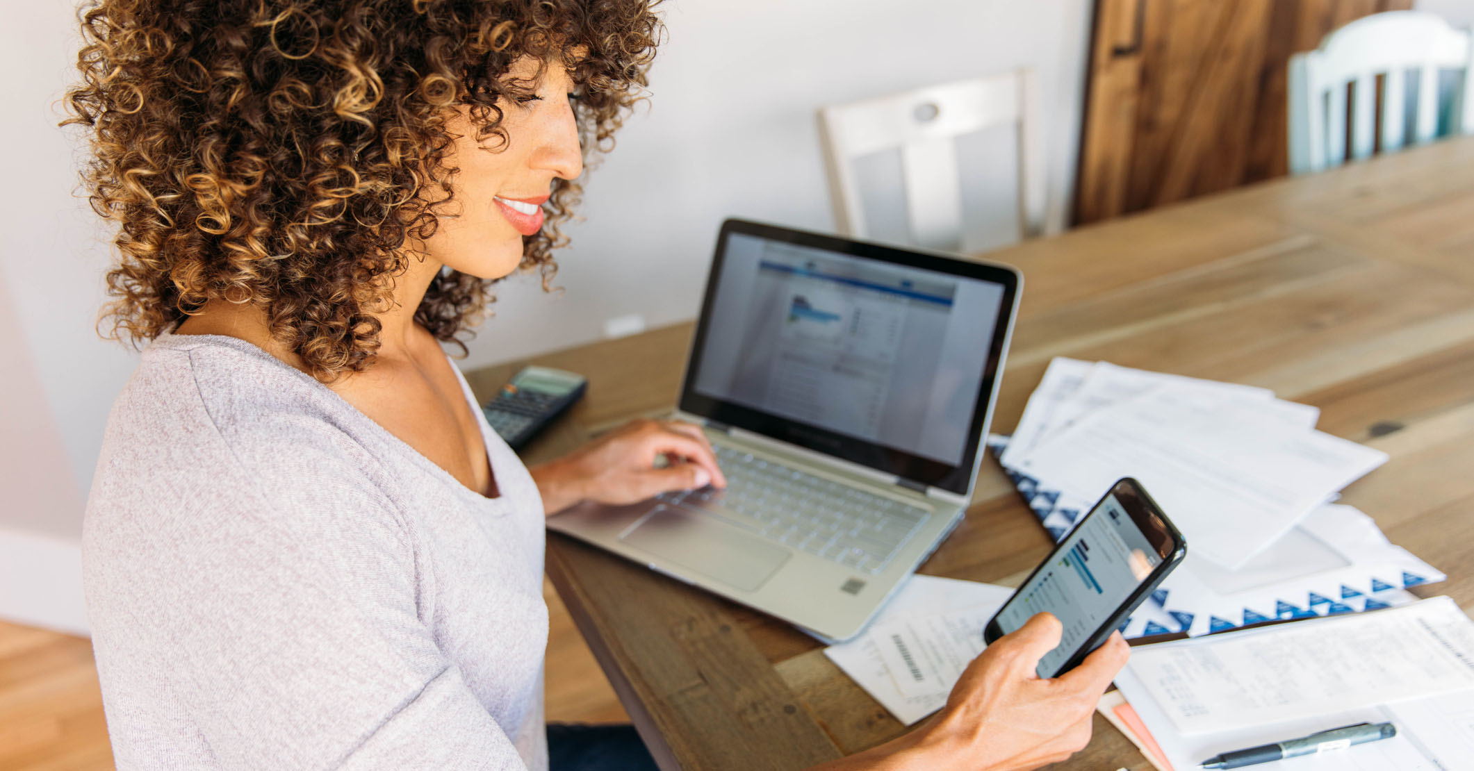
[[[528,470],[441,345],[497,279],[553,277],[660,29],[644,0],[85,12],[69,105],[119,226],[109,318],[152,341],[84,540],[119,767],[548,765],[542,516],[722,472],[693,426],[654,422]],[[1079,749],[1125,644],[1035,678],[1058,635],[1033,619],[926,727],[831,767]]]

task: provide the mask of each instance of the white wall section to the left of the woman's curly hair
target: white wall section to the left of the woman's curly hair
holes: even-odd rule
[[[84,631],[83,501],[133,355],[93,330],[108,251],[56,128],[75,29],[69,1],[0,10],[0,616]]]

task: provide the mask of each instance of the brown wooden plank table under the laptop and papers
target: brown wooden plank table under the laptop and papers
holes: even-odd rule
[[[993,429],[1051,357],[1272,388],[1391,461],[1344,492],[1449,573],[1418,594],[1474,610],[1474,139],[1085,227],[989,255],[1023,270]],[[629,265],[640,270],[638,265]],[[669,410],[691,327],[532,360],[588,397],[528,453]],[[489,397],[523,363],[472,374]],[[985,461],[973,507],[921,572],[1017,582],[1049,550]],[[547,571],[663,768],[802,768],[904,731],[809,637],[560,535]],[[556,677],[556,674],[553,675]],[[1057,768],[1147,761],[1100,716]]]

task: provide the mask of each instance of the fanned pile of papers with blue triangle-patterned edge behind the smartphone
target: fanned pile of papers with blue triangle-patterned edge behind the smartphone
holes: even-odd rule
[[[1055,540],[1120,476],[1182,529],[1188,559],[1125,628],[1206,634],[1403,604],[1445,576],[1330,506],[1387,460],[1315,430],[1268,389],[1055,358],[1011,438],[991,438]]]

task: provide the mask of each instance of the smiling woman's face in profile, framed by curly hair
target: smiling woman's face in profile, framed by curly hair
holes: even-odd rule
[[[481,279],[500,279],[522,262],[522,239],[542,227],[542,202],[554,178],[572,180],[584,170],[578,124],[563,66],[550,63],[538,78],[538,60],[523,57],[507,78],[537,83],[531,100],[503,97],[501,128],[507,142],[476,140],[466,111],[451,122],[455,136],[447,164],[454,199],[442,208],[439,228],[425,245],[430,259]]]

